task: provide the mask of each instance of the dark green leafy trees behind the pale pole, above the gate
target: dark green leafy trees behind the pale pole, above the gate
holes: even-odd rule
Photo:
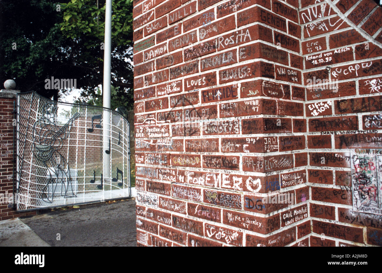
[[[112,101],[128,109],[133,108],[132,10],[131,0],[113,0]],[[45,79],[76,79],[83,99],[102,102],[97,87],[103,80],[104,14],[105,0],[2,0],[0,82],[15,79],[22,92],[57,100],[57,90],[45,89]]]

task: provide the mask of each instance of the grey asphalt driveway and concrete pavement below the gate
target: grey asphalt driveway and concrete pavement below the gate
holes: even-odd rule
[[[13,228],[8,228],[6,221],[0,222],[0,246],[34,246],[45,242],[49,246],[137,244],[134,199],[84,205],[76,209],[45,210],[43,214],[20,219],[6,220],[18,223],[19,227],[15,224]],[[18,230],[22,230],[22,226],[24,229],[29,226],[29,233],[19,234]],[[13,237],[13,233],[19,235]],[[60,240],[57,240],[58,237]],[[19,242],[15,241],[17,239]]]

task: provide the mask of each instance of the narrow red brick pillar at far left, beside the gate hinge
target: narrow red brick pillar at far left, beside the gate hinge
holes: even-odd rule
[[[0,128],[0,220],[16,218],[27,215],[36,215],[36,211],[18,213],[14,205],[15,193],[13,191],[15,177],[13,176],[13,150],[16,145],[13,142],[13,124],[15,116],[13,113],[14,104],[18,90],[0,90],[1,128]],[[15,173],[16,175],[16,173]],[[15,185],[16,186],[16,185]]]

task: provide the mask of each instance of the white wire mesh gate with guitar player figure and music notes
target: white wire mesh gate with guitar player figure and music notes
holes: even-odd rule
[[[129,123],[111,109],[17,99],[17,209],[130,196]]]

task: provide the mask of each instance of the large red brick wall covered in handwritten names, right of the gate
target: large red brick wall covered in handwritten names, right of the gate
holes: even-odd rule
[[[352,156],[382,148],[376,2],[138,0],[133,17],[139,246],[382,245],[377,157]]]

